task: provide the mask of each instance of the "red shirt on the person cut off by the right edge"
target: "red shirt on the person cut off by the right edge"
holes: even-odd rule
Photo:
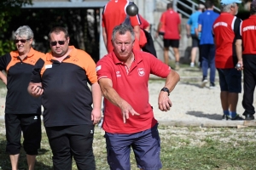
[[[241,23],[242,54],[256,54],[256,15],[251,15]]]

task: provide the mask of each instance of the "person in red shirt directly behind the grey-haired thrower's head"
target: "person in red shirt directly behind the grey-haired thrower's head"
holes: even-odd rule
[[[113,51],[111,43],[111,35],[114,26],[119,26],[125,21],[126,12],[125,8],[129,5],[129,0],[110,0],[104,7],[102,12],[102,36],[108,53]],[[140,39],[140,25],[138,14],[130,16],[130,24],[135,32],[134,48],[140,49],[138,40]]]

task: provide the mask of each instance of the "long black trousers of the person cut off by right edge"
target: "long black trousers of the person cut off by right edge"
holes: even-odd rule
[[[253,93],[256,85],[256,54],[243,55],[243,88],[244,94],[242,99],[242,106],[245,109],[243,115],[255,113],[253,107]]]

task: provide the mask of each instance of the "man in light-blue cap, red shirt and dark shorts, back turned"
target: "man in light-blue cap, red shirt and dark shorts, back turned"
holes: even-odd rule
[[[216,46],[215,65],[218,69],[223,119],[241,120],[236,113],[238,94],[241,93],[241,20],[236,18],[240,0],[221,0],[222,13],[214,21],[212,33]]]

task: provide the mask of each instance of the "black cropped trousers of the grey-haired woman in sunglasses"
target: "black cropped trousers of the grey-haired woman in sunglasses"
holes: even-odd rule
[[[41,142],[41,117],[38,114],[5,114],[6,152],[20,153],[20,138],[23,133],[23,147],[27,155],[38,155]]]

